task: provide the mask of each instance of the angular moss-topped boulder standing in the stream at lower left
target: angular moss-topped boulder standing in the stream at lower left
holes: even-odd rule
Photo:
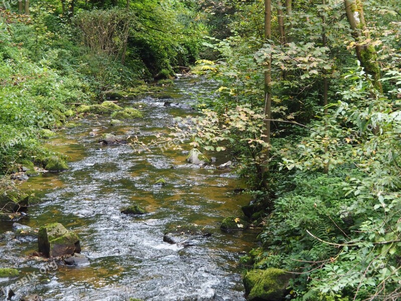
[[[57,257],[81,252],[79,237],[60,223],[42,226],[38,232],[39,252],[47,257]]]

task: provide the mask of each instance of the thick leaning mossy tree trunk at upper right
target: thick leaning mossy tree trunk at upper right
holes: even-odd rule
[[[344,0],[345,14],[352,30],[352,36],[355,39],[355,52],[358,61],[364,68],[366,74],[370,75],[373,86],[382,92],[380,79],[380,67],[377,63],[376,50],[372,45],[363,43],[360,34],[364,32],[364,37],[369,38],[366,31],[366,21],[363,13],[362,0]],[[362,43],[361,43],[362,42]]]

